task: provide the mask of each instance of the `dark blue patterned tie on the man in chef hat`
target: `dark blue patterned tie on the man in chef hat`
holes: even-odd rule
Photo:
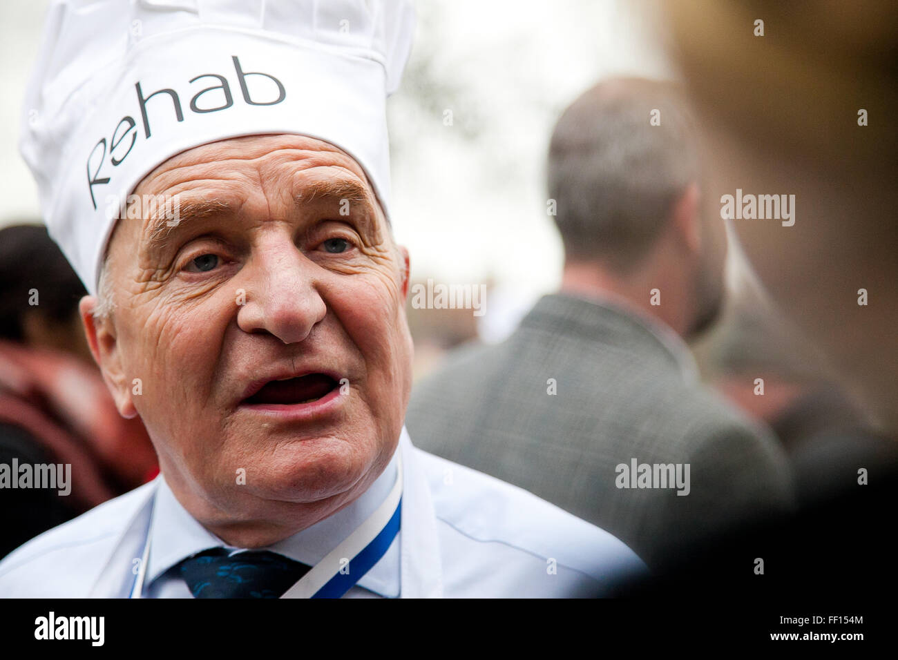
[[[311,567],[269,550],[204,550],[180,562],[194,598],[280,598]]]

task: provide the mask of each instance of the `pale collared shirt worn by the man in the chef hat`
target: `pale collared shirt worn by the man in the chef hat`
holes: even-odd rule
[[[345,597],[593,596],[646,570],[608,532],[521,488],[416,449],[404,428],[397,451],[401,532]],[[319,559],[383,501],[394,476],[395,467],[392,475],[388,468],[346,515],[338,512],[270,550],[304,563]],[[168,569],[222,542],[173,496],[167,499],[166,490],[157,478],[29,541],[0,562],[0,594],[128,597],[151,534],[144,594],[189,596]],[[154,506],[161,509],[158,525],[150,522]]]

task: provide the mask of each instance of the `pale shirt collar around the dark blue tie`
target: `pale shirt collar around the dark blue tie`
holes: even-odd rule
[[[383,473],[352,504],[302,532],[259,550],[278,552],[290,559],[314,566],[374,513],[377,506],[389,494],[396,480],[396,471],[397,457],[394,454]],[[362,576],[358,586],[388,598],[400,594],[401,533],[400,530],[383,558]],[[225,541],[199,524],[197,519],[181,506],[162,477],[155,496],[153,522],[150,526],[150,555],[146,566],[146,584],[151,584],[181,559],[216,547],[233,546],[227,545]]]

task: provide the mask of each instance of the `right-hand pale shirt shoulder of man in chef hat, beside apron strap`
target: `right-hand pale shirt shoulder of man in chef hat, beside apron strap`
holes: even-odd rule
[[[436,518],[471,541],[501,543],[543,561],[606,580],[645,570],[609,532],[533,493],[416,448]]]

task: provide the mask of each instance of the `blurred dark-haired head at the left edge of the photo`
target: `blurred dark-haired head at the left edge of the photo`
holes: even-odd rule
[[[47,228],[0,229],[0,339],[92,361],[78,315],[84,286]]]

